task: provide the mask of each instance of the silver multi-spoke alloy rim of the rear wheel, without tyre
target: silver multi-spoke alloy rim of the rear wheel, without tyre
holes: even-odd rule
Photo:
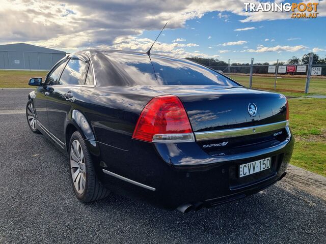
[[[83,148],[74,140],[70,148],[70,169],[76,191],[83,194],[86,185],[86,165]]]

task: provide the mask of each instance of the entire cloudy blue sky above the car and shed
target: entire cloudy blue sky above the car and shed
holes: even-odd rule
[[[291,19],[290,12],[245,12],[244,2],[0,0],[0,44],[24,42],[67,52],[147,51],[168,22],[152,53],[231,63],[250,63],[252,57],[254,63],[274,63],[308,52],[326,57],[326,0],[313,1],[318,3],[315,19]]]

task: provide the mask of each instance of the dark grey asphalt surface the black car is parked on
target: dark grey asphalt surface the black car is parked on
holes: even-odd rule
[[[325,201],[285,181],[186,215],[115,194],[78,202],[67,157],[26,124],[28,92],[0,90],[0,243],[326,243]]]

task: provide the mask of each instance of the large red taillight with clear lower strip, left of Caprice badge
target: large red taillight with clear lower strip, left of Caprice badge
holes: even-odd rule
[[[158,96],[145,106],[132,138],[150,142],[195,141],[192,127],[180,99]]]

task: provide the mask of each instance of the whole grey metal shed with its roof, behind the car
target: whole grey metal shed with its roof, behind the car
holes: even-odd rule
[[[50,70],[66,52],[26,43],[0,45],[0,69]]]

